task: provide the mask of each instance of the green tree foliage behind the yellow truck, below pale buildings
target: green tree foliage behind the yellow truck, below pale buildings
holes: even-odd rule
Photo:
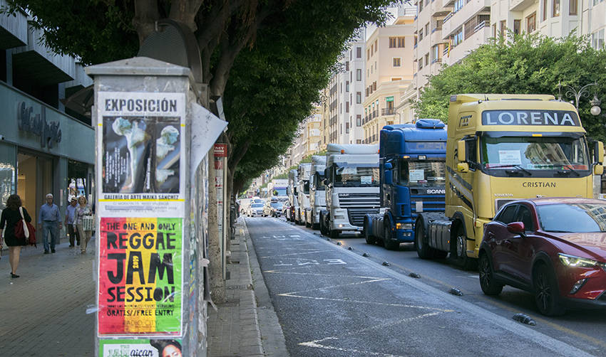
[[[589,136],[605,140],[605,116],[590,114],[594,90],[606,102],[606,50],[591,48],[587,38],[548,38],[538,35],[500,37],[474,50],[461,63],[444,66],[429,78],[415,103],[418,117],[448,119],[448,100],[462,93],[550,94],[558,97],[558,82],[590,87],[579,103]],[[563,90],[563,95],[565,91]],[[570,97],[565,97],[570,100]]]

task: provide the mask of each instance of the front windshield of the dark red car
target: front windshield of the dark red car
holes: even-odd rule
[[[537,212],[548,232],[606,232],[606,203],[558,203],[538,206]]]

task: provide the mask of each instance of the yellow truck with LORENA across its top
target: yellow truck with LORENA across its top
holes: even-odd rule
[[[604,145],[590,147],[575,107],[553,95],[451,96],[446,210],[418,215],[419,257],[450,252],[459,266],[475,267],[484,225],[504,203],[540,196],[592,198],[603,158]]]

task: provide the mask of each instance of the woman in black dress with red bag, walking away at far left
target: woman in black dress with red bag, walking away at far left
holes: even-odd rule
[[[11,277],[19,277],[17,275],[17,267],[19,267],[19,255],[21,254],[21,246],[27,245],[27,240],[15,237],[15,225],[19,220],[24,219],[26,222],[31,222],[31,217],[25,207],[23,207],[23,216],[21,218],[21,198],[18,195],[11,195],[6,200],[6,208],[2,210],[0,217],[0,250],[2,244],[6,243],[9,247],[9,262],[11,263]]]

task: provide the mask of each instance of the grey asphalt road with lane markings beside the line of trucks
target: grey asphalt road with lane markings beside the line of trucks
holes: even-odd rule
[[[606,354],[604,314],[585,315],[593,316],[582,321],[591,334],[568,331],[538,319],[529,294],[507,289],[491,302],[476,273],[420,260],[411,247],[391,252],[355,235],[328,241],[284,218],[246,222],[290,356]],[[413,271],[421,278],[409,277]],[[452,286],[463,296],[448,294]],[[537,326],[514,321],[513,310],[532,314]],[[575,316],[563,319],[579,324]]]

